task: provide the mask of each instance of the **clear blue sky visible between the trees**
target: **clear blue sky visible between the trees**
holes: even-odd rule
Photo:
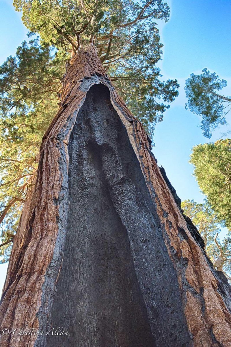
[[[163,78],[178,79],[180,95],[167,110],[164,120],[156,125],[153,152],[167,173],[181,200],[203,202],[204,196],[192,176],[188,163],[191,149],[208,139],[198,127],[200,119],[184,109],[186,102],[184,82],[189,75],[200,73],[204,67],[228,81],[224,94],[231,95],[231,1],[230,0],[172,0],[170,20],[159,25],[164,43],[162,61]],[[14,55],[17,46],[27,38],[20,14],[11,5],[12,0],[0,1],[0,64]],[[231,114],[226,117],[229,125],[217,129],[209,141],[225,138],[222,133],[231,129]],[[231,135],[230,135],[231,136]],[[224,235],[223,230],[222,235]],[[0,291],[7,265],[0,265]]]

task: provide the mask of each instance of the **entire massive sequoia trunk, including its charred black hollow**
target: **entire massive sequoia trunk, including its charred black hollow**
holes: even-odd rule
[[[41,144],[1,299],[1,346],[228,347],[230,294],[90,44],[67,66]],[[25,324],[43,333],[14,331]],[[69,335],[46,335],[58,327]]]

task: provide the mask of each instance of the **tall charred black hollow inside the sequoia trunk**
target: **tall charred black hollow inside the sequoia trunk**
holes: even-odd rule
[[[179,283],[139,161],[104,85],[68,145],[69,212],[49,347],[189,346]]]

